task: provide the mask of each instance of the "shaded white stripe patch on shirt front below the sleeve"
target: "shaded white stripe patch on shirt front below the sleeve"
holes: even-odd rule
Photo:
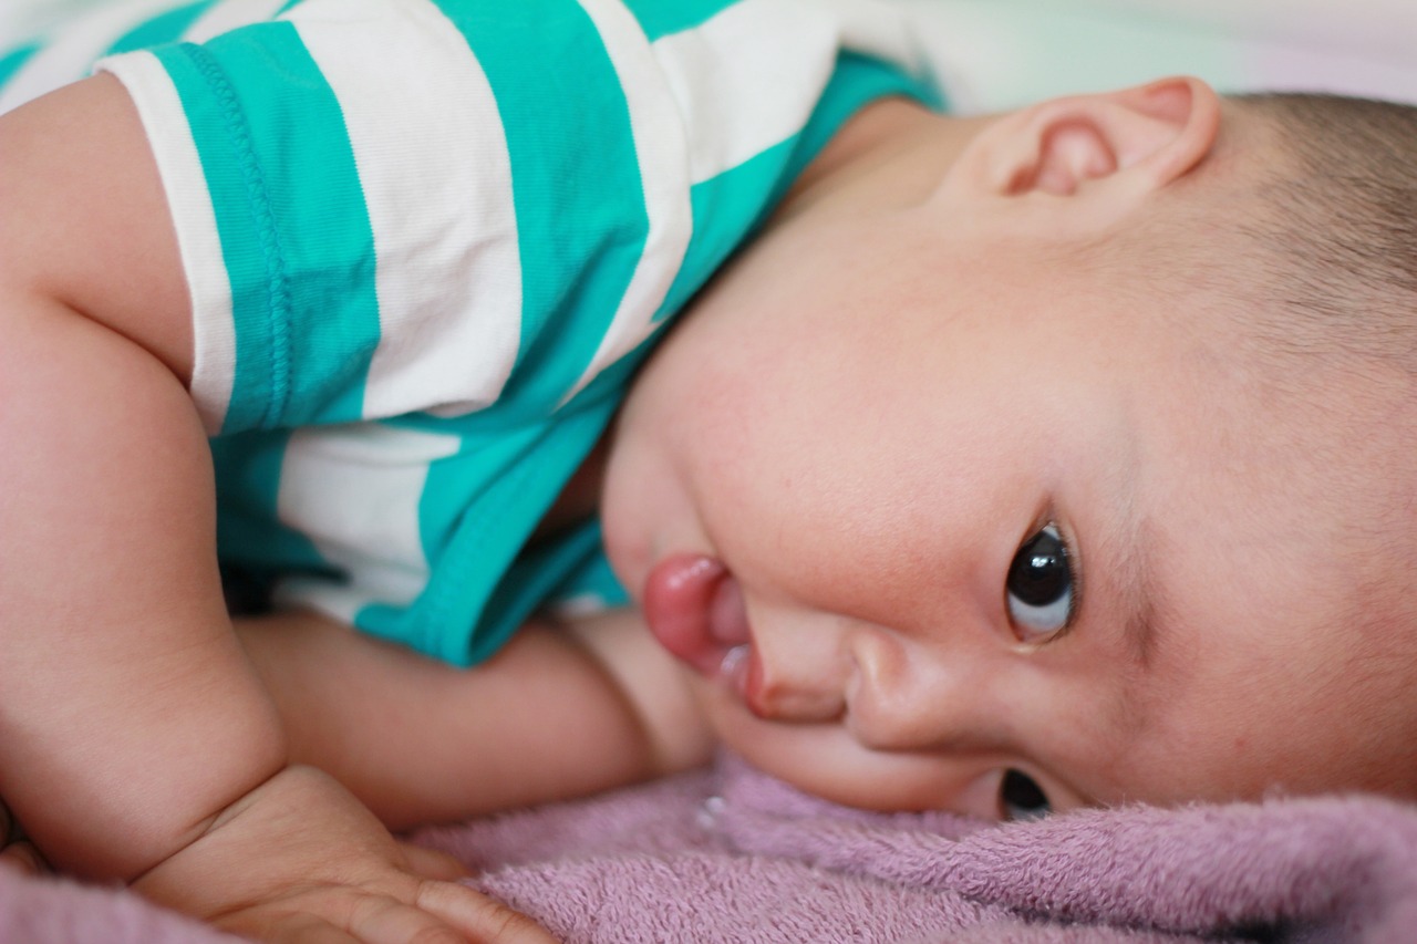
[[[276,513],[320,556],[349,574],[346,587],[290,581],[300,598],[353,622],[370,602],[404,605],[428,583],[418,505],[428,466],[461,439],[378,424],[317,427],[290,435],[281,463]]]

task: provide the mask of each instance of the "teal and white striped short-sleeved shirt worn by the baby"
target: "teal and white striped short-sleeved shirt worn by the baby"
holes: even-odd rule
[[[864,103],[873,0],[128,0],[0,60],[136,102],[191,292],[218,551],[466,665],[611,588],[523,550],[686,300]]]

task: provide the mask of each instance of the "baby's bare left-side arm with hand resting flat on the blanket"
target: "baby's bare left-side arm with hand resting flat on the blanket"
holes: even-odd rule
[[[510,940],[510,913],[288,767],[222,602],[187,319],[118,82],[0,116],[0,795],[57,866],[232,930]]]

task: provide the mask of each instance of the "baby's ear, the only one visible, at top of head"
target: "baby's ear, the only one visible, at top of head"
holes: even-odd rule
[[[985,128],[945,187],[993,196],[1159,190],[1210,152],[1220,99],[1196,78],[1168,78],[1101,95],[1057,98]]]

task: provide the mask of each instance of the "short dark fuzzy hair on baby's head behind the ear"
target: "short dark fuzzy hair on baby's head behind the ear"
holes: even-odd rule
[[[1253,285],[1265,337],[1376,357],[1417,377],[1417,108],[1311,94],[1234,99],[1270,139],[1240,234],[1264,249]]]

